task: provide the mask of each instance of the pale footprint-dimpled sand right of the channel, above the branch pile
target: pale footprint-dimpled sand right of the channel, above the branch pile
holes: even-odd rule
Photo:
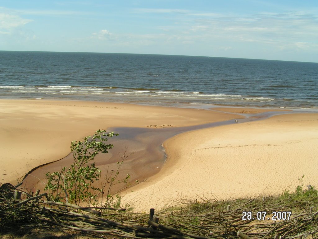
[[[245,110],[246,111],[246,110]],[[233,112],[233,111],[231,111]],[[318,185],[318,113],[202,129],[164,142],[164,168],[124,199],[148,212],[176,199],[229,199]]]

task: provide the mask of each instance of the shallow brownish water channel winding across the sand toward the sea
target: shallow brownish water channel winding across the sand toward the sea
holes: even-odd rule
[[[265,119],[277,114],[284,114],[291,112],[264,112],[259,114],[242,114],[245,119],[239,119],[239,123]],[[101,170],[102,178],[99,181],[105,182],[105,175],[110,170],[116,170],[118,167],[121,157],[126,152],[127,159],[121,165],[120,173],[117,179],[126,177],[127,174],[130,175],[130,182],[135,182],[135,180],[145,180],[156,173],[158,173],[165,160],[166,155],[162,143],[177,135],[184,132],[189,132],[192,130],[198,130],[209,127],[217,127],[222,125],[235,124],[235,120],[226,120],[221,122],[208,123],[196,126],[187,127],[162,127],[162,128],[132,128],[132,127],[110,127],[107,132],[119,133],[118,137],[110,138],[107,143],[113,144],[114,147],[109,149],[109,153],[100,154],[95,157],[94,162],[96,167]],[[194,139],[195,140],[195,139]],[[45,187],[45,173],[61,171],[63,167],[69,167],[73,163],[73,154],[69,154],[66,157],[55,161],[53,163],[48,163],[46,165],[39,166],[38,168],[31,170],[29,176],[25,177],[23,186],[31,191],[36,191],[40,189],[43,192]],[[43,181],[43,182],[42,182]],[[100,186],[100,185],[98,185]],[[126,185],[127,186],[127,185]],[[113,190],[118,191],[124,188],[125,185],[116,185]],[[113,192],[114,192],[113,191]]]

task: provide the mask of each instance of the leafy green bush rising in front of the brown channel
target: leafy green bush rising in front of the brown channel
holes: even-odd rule
[[[94,183],[100,180],[101,171],[96,168],[95,163],[90,163],[90,161],[100,153],[108,153],[108,149],[112,148],[113,145],[105,143],[107,138],[119,135],[114,134],[114,132],[105,133],[105,130],[97,130],[93,136],[85,137],[84,141],[72,141],[71,150],[74,163],[71,167],[64,167],[61,172],[46,173],[47,185],[45,189],[49,191],[51,200],[66,201],[76,205],[81,202],[89,202],[89,204],[98,202],[98,197],[104,193],[105,184],[101,184],[101,188],[94,186]],[[122,162],[125,158],[125,156],[122,157]],[[107,183],[110,183],[108,192],[118,175],[118,170],[119,167],[116,175],[107,178]],[[114,170],[111,170],[110,173],[113,172]],[[124,179],[124,182],[127,182],[128,178],[129,175]],[[109,196],[107,195],[107,202]]]

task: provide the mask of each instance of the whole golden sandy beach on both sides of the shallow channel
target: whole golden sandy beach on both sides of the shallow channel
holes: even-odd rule
[[[283,114],[241,123],[240,114],[268,109],[213,110],[121,103],[0,100],[0,182],[70,153],[70,142],[108,127],[163,128],[239,119],[163,143],[167,160],[155,176],[123,192],[136,211],[176,199],[236,198],[293,190],[298,177],[317,185],[318,114]],[[234,121],[234,120],[233,120]]]

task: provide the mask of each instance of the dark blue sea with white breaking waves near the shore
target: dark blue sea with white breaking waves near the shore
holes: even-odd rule
[[[318,108],[318,63],[0,51],[1,99]]]

